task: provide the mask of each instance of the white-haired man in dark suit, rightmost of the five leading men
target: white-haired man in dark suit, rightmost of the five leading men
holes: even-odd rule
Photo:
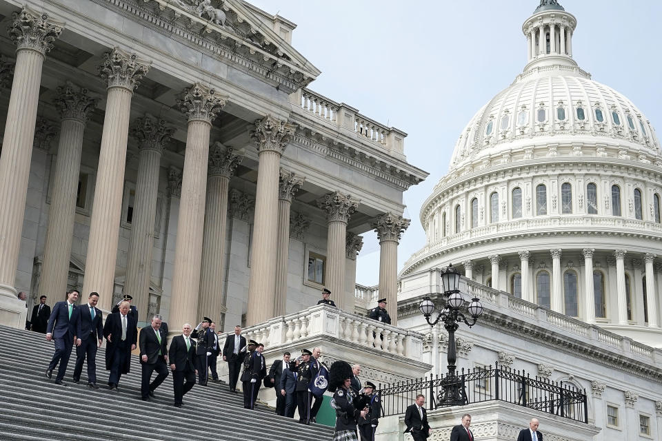
[[[181,328],[181,336],[174,336],[170,342],[168,359],[172,371],[174,389],[174,407],[181,407],[182,398],[195,384],[195,340],[191,338],[191,325],[186,323]],[[184,384],[184,380],[186,383]]]

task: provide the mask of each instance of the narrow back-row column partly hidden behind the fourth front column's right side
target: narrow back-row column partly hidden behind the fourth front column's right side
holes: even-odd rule
[[[278,187],[278,245],[276,258],[276,301],[274,317],[285,315],[288,300],[288,258],[290,252],[290,208],[292,198],[303,185],[303,176],[281,170]]]

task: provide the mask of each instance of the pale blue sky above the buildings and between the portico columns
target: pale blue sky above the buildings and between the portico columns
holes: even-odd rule
[[[401,269],[425,245],[419,210],[448,171],[460,132],[522,71],[521,25],[539,1],[249,1],[297,23],[292,45],[322,71],[309,88],[409,134],[408,161],[430,176],[404,194],[412,225],[400,243]],[[577,19],[572,52],[579,66],[662,127],[662,1],[559,3]],[[357,283],[379,283],[374,232],[363,234]]]

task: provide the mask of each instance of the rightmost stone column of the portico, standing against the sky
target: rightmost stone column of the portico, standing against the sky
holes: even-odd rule
[[[391,305],[393,326],[398,325],[398,244],[410,223],[410,219],[385,213],[372,224],[379,239],[379,296]]]

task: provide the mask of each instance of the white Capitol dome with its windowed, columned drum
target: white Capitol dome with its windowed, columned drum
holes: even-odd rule
[[[528,63],[461,132],[401,276],[477,283],[662,346],[662,154],[650,121],[576,63],[576,18],[542,0]]]

